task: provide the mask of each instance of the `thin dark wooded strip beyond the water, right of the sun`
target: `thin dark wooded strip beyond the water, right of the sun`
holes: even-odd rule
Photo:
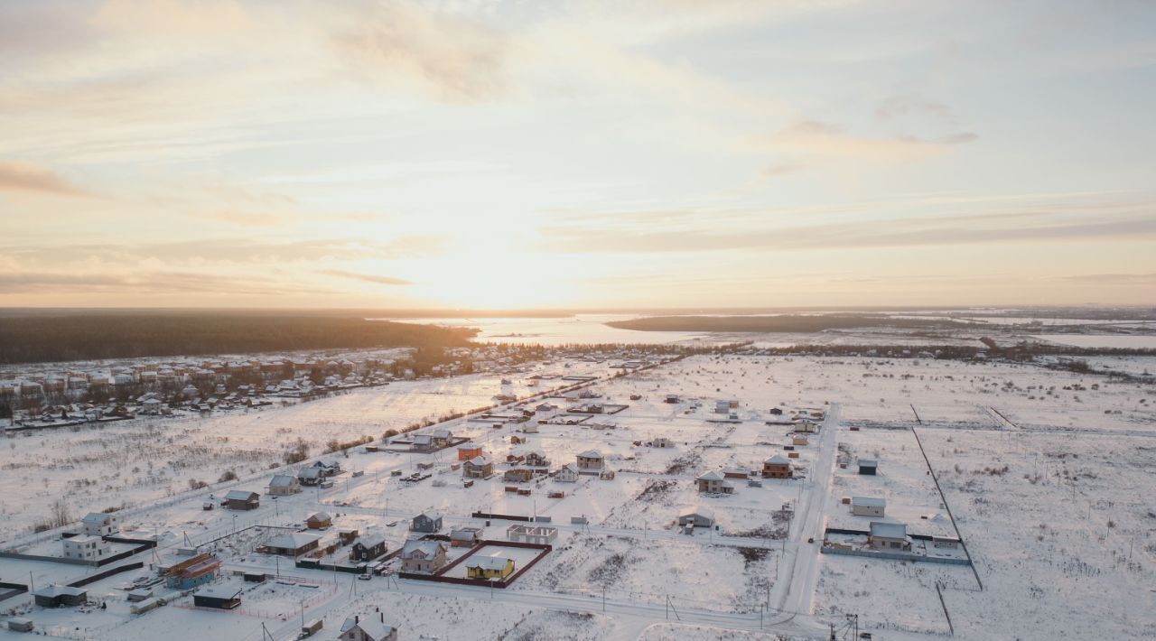
[[[640,331],[823,331],[861,327],[902,327],[907,329],[950,329],[968,323],[936,319],[897,319],[884,315],[785,314],[780,316],[650,316],[606,323],[618,329]],[[973,327],[973,326],[972,326]]]

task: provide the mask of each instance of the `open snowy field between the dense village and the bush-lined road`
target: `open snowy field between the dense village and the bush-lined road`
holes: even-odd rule
[[[526,377],[538,371],[546,370],[531,368]],[[558,371],[605,372],[606,364],[573,362]],[[564,383],[551,380],[526,387],[524,382],[504,387],[526,396]],[[316,455],[332,440],[379,439],[386,430],[492,404],[502,390],[499,377],[476,374],[394,382],[323,401],[287,401],[286,407],[205,418],[138,418],[10,433],[0,442],[5,453],[0,483],[18,485],[21,491],[0,497],[0,544],[44,520],[59,497],[79,519],[87,512],[187,493],[190,480],[214,484],[230,470],[255,480],[262,470],[283,464],[286,450],[298,438]],[[262,475],[251,489],[264,493],[261,485],[267,482]]]

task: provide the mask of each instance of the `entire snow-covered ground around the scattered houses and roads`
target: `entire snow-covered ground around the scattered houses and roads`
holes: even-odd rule
[[[1120,362],[1121,366],[1127,363]],[[606,364],[591,367],[606,371]],[[497,393],[496,383],[470,377],[390,386],[254,412],[260,418],[214,417],[203,422],[206,432],[192,435],[183,432],[185,422],[160,422],[151,428],[160,434],[141,441],[184,439],[157,447],[153,455],[155,465],[170,470],[168,477],[173,474],[170,462],[181,459],[180,446],[188,444],[228,437],[229,442],[214,446],[223,456],[234,449],[255,449],[266,440],[301,435],[324,442],[339,434],[379,433],[415,417],[467,409],[477,398],[483,402],[476,404],[487,404]],[[185,536],[193,543],[220,539],[215,545],[229,571],[275,572],[277,561],[253,551],[269,531],[251,526],[301,527],[305,516],[320,509],[334,516],[335,528],[383,532],[391,550],[409,536],[408,519],[429,508],[444,512],[446,529],[483,526],[469,516],[475,509],[547,515],[560,528],[554,552],[509,589],[494,594],[484,588],[386,577],[357,581],[351,575],[287,569],[288,561],[280,561],[282,573],[317,581],[336,576],[336,591],[305,609],[306,619],[324,618],[329,632],[346,616],[371,616],[380,608],[387,623],[401,627],[405,636],[459,638],[467,626],[468,638],[487,639],[503,634],[507,639],[667,639],[679,634],[756,639],[761,608],[770,599],[798,611],[793,621],[775,623],[784,634],[821,636],[827,621],[839,623],[844,614],[857,613],[861,629],[884,639],[912,639],[947,633],[935,590],[940,584],[956,634],[965,639],[1156,635],[1151,591],[1156,584],[1156,508],[1151,504],[1156,426],[1149,409],[1156,390],[1151,385],[1000,363],[702,356],[600,381],[591,389],[601,393],[602,401],[630,408],[584,425],[541,425],[536,434],[518,432],[514,424],[495,430],[484,423],[453,422],[454,431],[474,437],[498,462],[497,477],[477,480],[469,489],[464,487],[460,470],[451,469],[457,464],[453,449],[436,455],[354,452],[341,462],[347,469],[364,470],[363,476],[342,475],[332,489],[306,490],[277,501],[262,497],[261,507],[249,513],[203,512],[207,491],[163,499],[163,490],[116,485],[111,493],[103,486],[92,489],[73,507],[83,512],[97,499],[101,504],[123,500],[120,494],[134,492],[135,502],[161,498],[147,509],[125,513],[125,524],[158,531],[162,552],[184,545]],[[679,394],[683,402],[664,403],[667,394]],[[630,395],[642,398],[631,401]],[[719,418],[712,412],[714,401],[727,398],[739,402],[740,422],[709,420]],[[705,471],[755,467],[772,454],[788,452],[784,449],[791,442],[787,427],[764,423],[773,407],[788,412],[827,409],[835,417],[807,446],[795,447],[799,459],[792,461],[806,480],[762,479],[762,487],[753,487],[732,479],[734,494],[697,492],[695,477]],[[594,426],[599,424],[608,427],[599,430]],[[108,427],[104,433],[127,433],[127,427]],[[149,430],[143,424],[136,428]],[[245,433],[246,428],[254,433]],[[851,515],[842,504],[842,498],[851,495],[884,498],[884,520],[903,521],[912,532],[954,531],[950,519],[944,520],[947,508],[941,507],[913,430],[976,559],[983,591],[968,567],[818,554],[817,544],[806,541],[813,526],[818,527],[818,536],[822,526],[866,529],[862,524],[870,519]],[[92,435],[84,431],[40,433],[14,441],[23,447],[23,441],[50,440],[29,452],[35,465],[31,475],[34,479],[51,476],[51,483],[64,486],[97,469],[113,470],[144,460],[138,452],[116,454],[121,457],[114,464],[96,459],[73,463],[72,469],[53,468],[51,474],[39,468],[52,460],[52,452],[79,447],[74,441]],[[511,444],[511,437],[527,442]],[[657,437],[669,438],[674,447],[645,445]],[[84,447],[101,448],[95,442]],[[550,459],[550,469],[557,469],[586,449],[602,453],[616,471],[613,479],[584,476],[578,483],[536,479],[517,484],[531,490],[528,497],[505,491],[506,485],[514,485],[501,479],[506,455],[541,452]],[[257,472],[264,463],[276,462],[280,453],[280,446],[271,445],[269,459],[253,464],[252,480],[243,478],[236,486],[264,493],[269,472]],[[853,465],[858,457],[877,459],[880,475],[859,477]],[[423,472],[430,478],[403,483],[392,476],[393,471],[413,474],[417,463],[427,462],[433,463]],[[839,462],[849,463],[847,468]],[[193,474],[210,476],[206,467]],[[12,506],[29,506],[8,515],[16,521],[13,532],[27,531],[29,520],[43,514],[52,497],[37,495],[46,489],[28,483],[21,470],[3,470],[7,486],[17,489],[5,499],[8,512]],[[246,470],[238,472],[244,476]],[[175,490],[180,484],[172,483]],[[564,497],[551,499],[550,492],[564,492]],[[785,513],[784,504],[796,510]],[[688,536],[673,527],[680,513],[699,505],[714,509],[718,531],[699,528]],[[571,516],[579,515],[588,524],[570,523]],[[494,521],[484,536],[504,538],[507,524]],[[235,529],[239,534],[232,535]],[[454,550],[451,558],[460,553]],[[36,567],[27,564],[37,565],[0,560],[0,580],[29,569],[35,574]],[[44,572],[61,581],[91,573],[83,567],[38,566],[51,568]],[[279,610],[269,619],[171,606],[131,616],[119,587],[146,574],[147,569],[94,583],[90,595],[110,603],[104,611],[47,611],[28,605],[28,597],[9,599],[0,608],[27,613],[42,628],[80,628],[89,631],[81,635],[96,639],[155,638],[158,632],[179,629],[197,631],[198,638],[207,633],[220,639],[259,639],[261,623],[283,639],[299,626],[299,609],[273,598],[264,601],[265,610]],[[649,628],[665,619],[670,602],[682,613],[682,623],[699,627]],[[253,598],[254,608],[260,603]]]

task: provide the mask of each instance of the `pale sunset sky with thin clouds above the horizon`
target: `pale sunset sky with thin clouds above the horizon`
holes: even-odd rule
[[[1156,2],[0,0],[0,306],[1156,304]]]

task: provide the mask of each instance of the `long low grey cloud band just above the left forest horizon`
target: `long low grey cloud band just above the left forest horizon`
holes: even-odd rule
[[[333,293],[318,288],[303,288],[296,282],[280,282],[268,277],[232,277],[183,271],[149,274],[59,274],[59,273],[0,273],[0,293],[132,293],[141,296],[215,293],[225,296],[276,296],[299,293]]]

